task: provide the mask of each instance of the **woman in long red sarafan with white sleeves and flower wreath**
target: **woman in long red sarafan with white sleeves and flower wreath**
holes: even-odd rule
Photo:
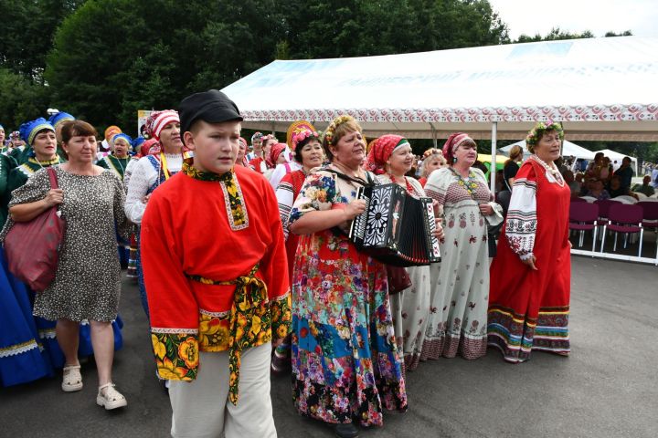
[[[488,343],[510,362],[530,359],[532,349],[570,351],[570,191],[554,163],[563,139],[559,123],[538,123],[528,134],[533,155],[516,173],[491,266]]]

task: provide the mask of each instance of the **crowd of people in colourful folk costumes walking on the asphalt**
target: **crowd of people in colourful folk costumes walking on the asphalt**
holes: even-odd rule
[[[505,218],[467,133],[419,163],[407,139],[368,142],[350,116],[324,132],[296,121],[285,142],[256,132],[250,144],[241,122],[236,104],[210,90],[154,111],[147,139],[111,126],[101,140],[64,112],[20,127],[25,144],[0,154],[0,239],[53,207],[67,228],[43,291],[0,253],[1,384],[61,369],[61,389],[80,391],[80,359],[93,354],[96,402],[126,406],[111,378],[122,275],[138,284],[173,436],[276,436],[272,374],[292,379],[301,415],[355,437],[357,426],[413,409],[405,381],[424,361],[476,360],[488,346],[510,362],[532,349],[568,355],[559,123],[528,133],[533,155],[520,166],[511,157]],[[431,198],[438,218],[440,263],[402,268],[400,290],[391,266],[348,235],[367,208],[359,189],[378,184]],[[490,267],[488,231],[501,224]]]

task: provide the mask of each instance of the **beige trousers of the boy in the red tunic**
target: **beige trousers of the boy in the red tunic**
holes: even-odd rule
[[[239,401],[228,400],[228,351],[199,354],[196,380],[171,381],[175,438],[276,438],[270,396],[271,343],[242,351]]]

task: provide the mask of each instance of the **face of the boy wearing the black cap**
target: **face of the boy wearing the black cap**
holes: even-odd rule
[[[233,168],[239,150],[239,121],[196,122],[195,131],[186,131],[186,146],[195,151],[194,166],[201,172],[225,173]]]

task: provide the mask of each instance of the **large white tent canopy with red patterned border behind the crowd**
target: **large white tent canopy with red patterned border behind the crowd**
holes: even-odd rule
[[[570,140],[658,141],[658,38],[624,36],[381,57],[277,60],[229,85],[244,127],[318,129],[341,114],[366,135],[525,137],[563,121]]]

